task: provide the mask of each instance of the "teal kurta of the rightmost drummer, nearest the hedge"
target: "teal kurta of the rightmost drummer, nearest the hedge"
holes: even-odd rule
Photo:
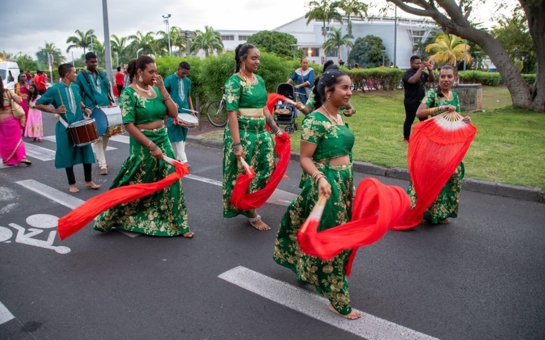
[[[171,96],[174,103],[178,104],[179,113],[190,113],[189,111],[182,110],[189,109],[189,91],[191,90],[191,81],[189,78],[184,77],[180,78],[177,73],[170,75],[165,78],[165,88],[168,91],[168,94]],[[185,141],[187,137],[187,128],[181,125],[174,125],[172,123],[172,118],[167,120],[167,132],[168,139],[171,142],[175,141]]]

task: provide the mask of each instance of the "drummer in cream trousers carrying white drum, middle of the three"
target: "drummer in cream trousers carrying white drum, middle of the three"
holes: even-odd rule
[[[111,98],[110,94],[110,81],[108,81],[104,71],[96,68],[98,61],[94,52],[88,52],[85,55],[85,64],[87,65],[87,70],[78,73],[76,78],[76,85],[80,86],[82,92],[83,103],[91,110],[94,110],[96,107],[115,105],[116,102]],[[100,167],[100,175],[108,174],[105,155],[108,140],[110,140],[110,137],[101,135],[93,143],[96,160]]]

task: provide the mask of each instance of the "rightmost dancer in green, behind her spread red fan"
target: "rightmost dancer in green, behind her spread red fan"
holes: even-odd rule
[[[448,65],[441,67],[439,71],[439,87],[426,92],[426,96],[422,100],[416,116],[423,118],[429,115],[433,117],[447,111],[460,112],[458,95],[452,91],[452,84],[454,82],[456,82],[454,69]],[[470,116],[465,116],[463,121],[468,124],[471,123]],[[439,196],[437,196],[437,199],[426,209],[424,213],[425,220],[433,224],[448,224],[450,221],[447,218],[458,217],[458,203],[460,201],[464,172],[464,163],[460,162],[454,174],[452,174],[449,181],[443,187],[443,190],[439,193]],[[417,200],[412,182],[409,183],[407,193],[411,200],[411,206],[414,207]]]

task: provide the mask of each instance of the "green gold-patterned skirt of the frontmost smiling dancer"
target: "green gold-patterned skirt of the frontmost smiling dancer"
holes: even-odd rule
[[[314,164],[331,184],[331,196],[318,226],[318,231],[322,231],[350,221],[352,164]],[[305,176],[301,194],[289,205],[280,222],[273,257],[278,264],[293,270],[298,282],[314,285],[318,293],[329,299],[335,310],[346,315],[352,311],[347,276],[344,274],[344,265],[348,261],[350,250],[345,250],[328,261],[322,261],[316,256],[305,255],[297,243],[297,233],[318,200],[318,186],[308,177]]]

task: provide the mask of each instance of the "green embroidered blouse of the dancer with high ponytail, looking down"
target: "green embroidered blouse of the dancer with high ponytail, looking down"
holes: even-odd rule
[[[256,75],[257,84],[247,84],[237,75],[232,75],[225,82],[227,110],[238,111],[239,108],[258,109],[267,106],[267,90],[263,79]]]

